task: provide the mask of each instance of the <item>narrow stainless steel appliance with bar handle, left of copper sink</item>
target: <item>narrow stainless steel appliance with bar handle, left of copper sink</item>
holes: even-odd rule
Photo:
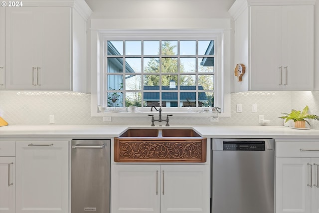
[[[71,213],[110,213],[110,140],[71,146]]]

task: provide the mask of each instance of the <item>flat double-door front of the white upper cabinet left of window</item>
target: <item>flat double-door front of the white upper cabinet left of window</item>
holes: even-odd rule
[[[71,8],[8,7],[6,89],[71,90]]]

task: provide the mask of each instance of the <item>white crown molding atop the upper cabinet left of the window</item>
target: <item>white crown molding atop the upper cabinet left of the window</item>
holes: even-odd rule
[[[92,14],[85,0],[25,0],[23,6],[68,6],[74,8],[85,21]]]

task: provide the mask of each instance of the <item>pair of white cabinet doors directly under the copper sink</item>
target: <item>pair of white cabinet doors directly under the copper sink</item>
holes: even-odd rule
[[[113,165],[111,213],[208,213],[208,165]]]

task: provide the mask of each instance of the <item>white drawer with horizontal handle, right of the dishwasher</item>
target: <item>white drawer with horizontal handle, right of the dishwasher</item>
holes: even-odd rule
[[[276,157],[319,157],[318,142],[276,142]]]

